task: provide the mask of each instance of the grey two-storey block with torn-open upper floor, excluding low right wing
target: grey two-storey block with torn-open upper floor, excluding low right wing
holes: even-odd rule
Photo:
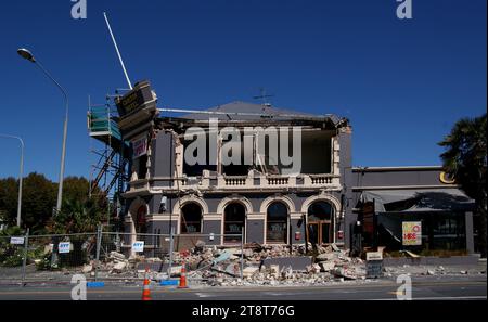
[[[239,234],[244,243],[345,243],[347,119],[245,102],[159,112],[152,102],[119,121],[133,150],[126,232],[172,227],[221,245],[240,243]]]

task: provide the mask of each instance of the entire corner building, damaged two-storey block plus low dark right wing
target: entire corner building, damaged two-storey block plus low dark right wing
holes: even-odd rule
[[[157,248],[143,234],[172,230],[181,249],[200,239],[399,249],[402,222],[421,221],[420,247],[475,252],[473,201],[455,182],[440,167],[352,167],[346,118],[246,102],[158,108],[147,81],[115,103],[115,118],[91,112],[90,136],[111,133],[121,156],[128,247]]]

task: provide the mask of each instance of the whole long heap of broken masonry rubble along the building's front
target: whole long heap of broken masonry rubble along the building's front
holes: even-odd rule
[[[307,253],[307,249],[309,250]],[[99,273],[107,276],[142,278],[144,270],[138,269],[151,263],[160,263],[151,269],[153,280],[179,276],[183,263],[192,281],[214,286],[321,284],[331,281],[364,279],[364,266],[359,258],[350,258],[347,250],[335,244],[328,247],[307,245],[260,245],[245,244],[244,247],[207,246],[198,241],[188,250],[174,252],[171,270],[168,274],[168,257],[144,257],[111,252],[99,266]],[[243,262],[241,263],[241,257]],[[280,265],[269,259],[283,259]],[[305,258],[310,265],[294,267],[293,259]],[[290,259],[290,265],[288,265]],[[304,260],[301,260],[304,261]],[[141,265],[142,263],[142,265]],[[94,274],[95,262],[82,268],[84,273]],[[154,266],[150,266],[154,267]],[[242,269],[242,279],[241,279]]]

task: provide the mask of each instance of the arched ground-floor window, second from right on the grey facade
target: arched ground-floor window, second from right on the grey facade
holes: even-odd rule
[[[288,208],[285,204],[274,202],[268,206],[266,215],[267,243],[287,243]]]

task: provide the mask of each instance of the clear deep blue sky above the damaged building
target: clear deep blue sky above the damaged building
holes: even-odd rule
[[[0,132],[26,144],[25,172],[57,180],[61,93],[16,54],[29,48],[70,99],[66,175],[89,176],[87,96],[126,88],[102,12],[132,81],[150,79],[160,107],[253,102],[335,113],[354,127],[356,166],[438,165],[436,142],[486,112],[486,0],[7,1],[0,12]],[[0,177],[18,173],[18,144],[0,139]]]

